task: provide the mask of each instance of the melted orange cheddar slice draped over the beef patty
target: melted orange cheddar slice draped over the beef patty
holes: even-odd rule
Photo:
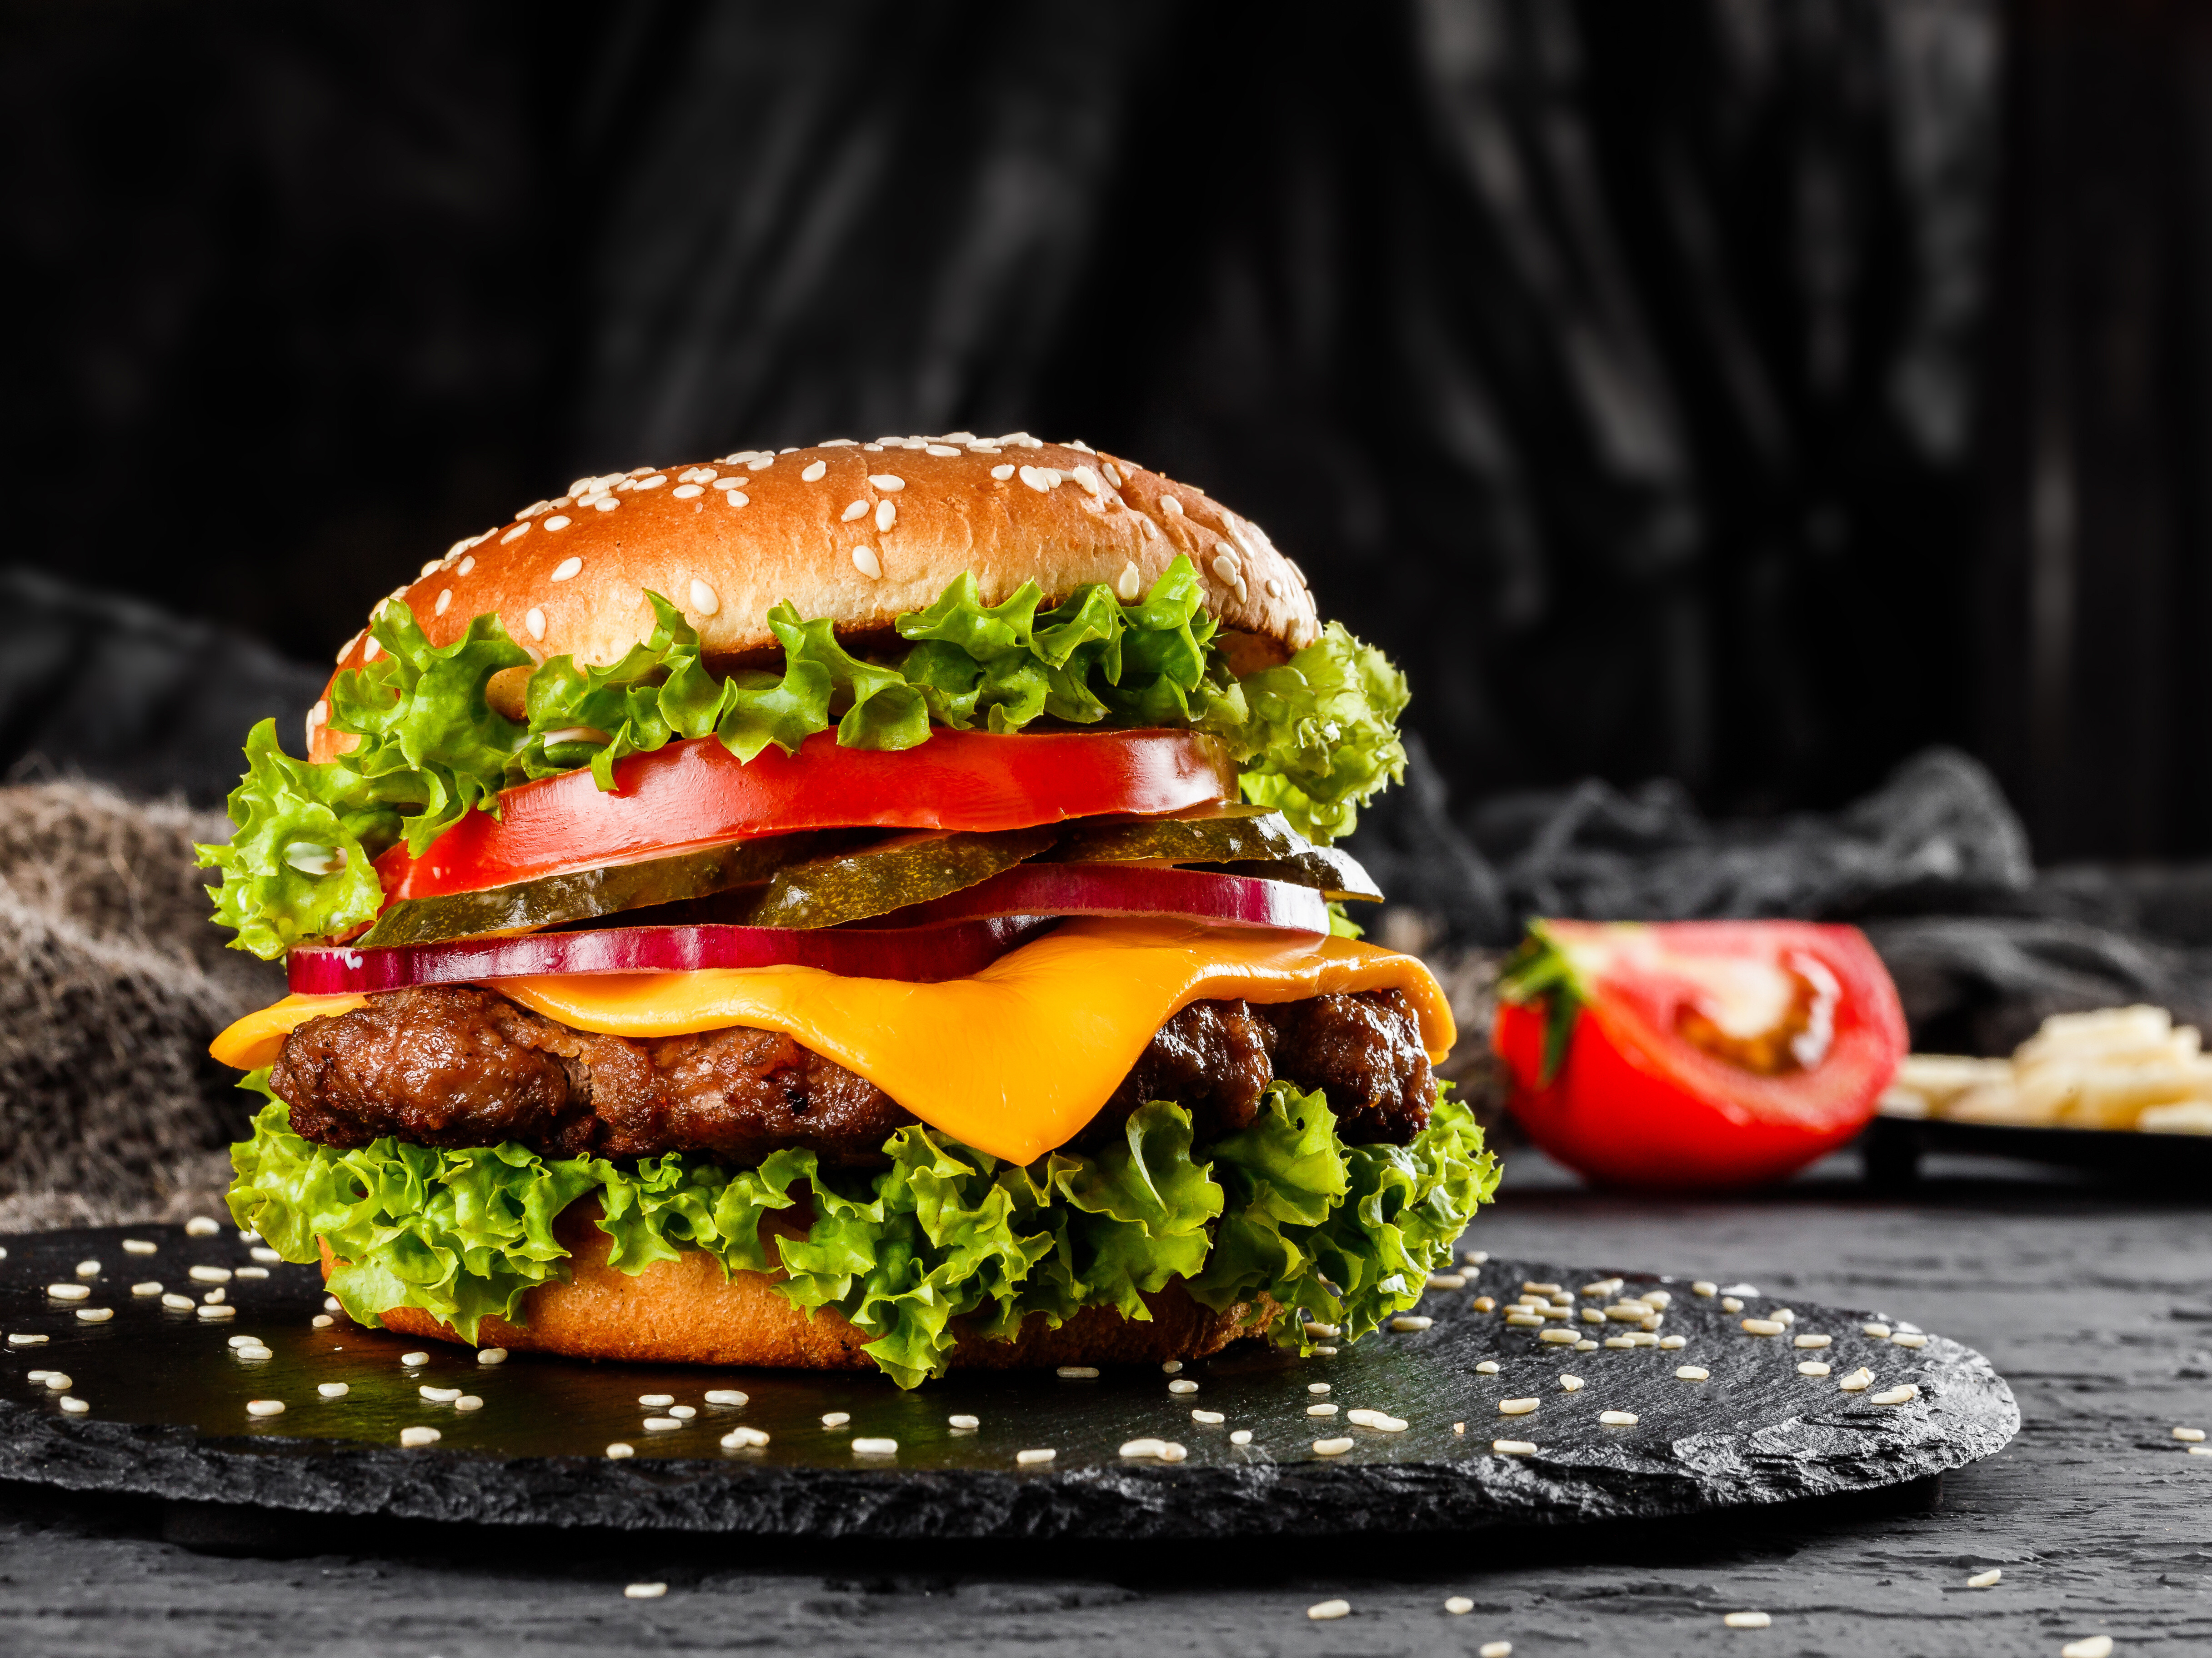
[[[1442,988],[1411,955],[1181,920],[1066,922],[982,973],[942,984],[768,966],[498,979],[493,988],[608,1037],[781,1030],[867,1077],[931,1127],[1013,1163],[1066,1145],[1152,1032],[1192,1001],[1402,990],[1431,1059],[1442,1059],[1455,1035]],[[268,1066],[294,1026],[365,999],[285,997],[239,1019],[210,1052],[241,1070]]]

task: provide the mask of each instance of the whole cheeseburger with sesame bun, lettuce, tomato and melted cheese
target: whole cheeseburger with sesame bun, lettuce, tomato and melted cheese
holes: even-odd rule
[[[1343,906],[1405,681],[1248,520],[1026,433],[580,478],[246,743],[292,995],[230,1211],[363,1324],[880,1368],[1356,1340],[1495,1185]]]

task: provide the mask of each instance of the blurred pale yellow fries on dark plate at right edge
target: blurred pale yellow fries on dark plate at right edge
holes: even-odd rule
[[[2166,1008],[2057,1012],[2011,1059],[1911,1054],[1885,1116],[2212,1134],[2212,1057]]]

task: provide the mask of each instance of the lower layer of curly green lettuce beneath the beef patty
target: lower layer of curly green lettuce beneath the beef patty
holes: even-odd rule
[[[268,1094],[265,1072],[246,1085]],[[476,1340],[487,1315],[520,1320],[531,1289],[566,1278],[553,1222],[595,1198],[619,1271],[686,1249],[726,1273],[781,1271],[779,1295],[834,1307],[911,1388],[945,1375],[962,1333],[1006,1340],[1084,1307],[1150,1320],[1144,1295],[1172,1278],[1214,1309],[1272,1295],[1290,1313],[1279,1342],[1303,1344],[1305,1320],[1356,1340],[1420,1300],[1498,1187],[1482,1130],[1449,1092],[1402,1147],[1347,1147],[1318,1092],[1274,1083],[1252,1127],[1203,1150],[1190,1114],[1155,1101],[1095,1154],[1011,1165],[920,1125],[885,1152],[880,1172],[823,1169],[796,1150],[750,1169],[544,1158],[513,1143],[341,1152],[292,1134],[272,1099],[230,1150],[230,1214],[285,1260],[314,1262],[325,1238],[343,1262],[330,1291],[363,1324],[420,1307]],[[763,1238],[779,1211],[805,1216],[805,1234]]]

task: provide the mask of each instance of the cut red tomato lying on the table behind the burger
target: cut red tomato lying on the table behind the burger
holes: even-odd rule
[[[1907,1050],[1896,986],[1856,926],[1540,922],[1533,933],[1557,955],[1524,982],[1559,988],[1502,999],[1491,1048],[1528,1138],[1601,1185],[1781,1180],[1865,1127]],[[1559,995],[1579,1008],[1546,1077]]]

